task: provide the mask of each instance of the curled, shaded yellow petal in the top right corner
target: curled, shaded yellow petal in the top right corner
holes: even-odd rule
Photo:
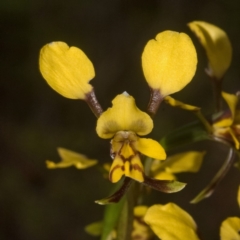
[[[221,28],[203,21],[194,21],[188,26],[206,50],[208,74],[221,79],[232,60],[232,46],[227,34]]]

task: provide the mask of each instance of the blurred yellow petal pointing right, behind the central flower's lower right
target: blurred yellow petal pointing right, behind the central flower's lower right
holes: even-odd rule
[[[189,151],[168,157],[164,162],[170,173],[198,172],[206,152]]]

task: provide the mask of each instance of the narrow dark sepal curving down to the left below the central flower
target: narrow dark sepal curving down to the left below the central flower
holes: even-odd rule
[[[124,194],[129,189],[130,185],[132,184],[132,179],[125,177],[122,186],[111,196],[96,200],[95,203],[100,205],[106,205],[106,204],[112,204],[117,203],[121,200],[121,198],[124,196]]]

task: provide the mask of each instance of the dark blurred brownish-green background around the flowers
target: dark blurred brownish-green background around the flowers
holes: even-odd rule
[[[99,139],[96,119],[83,101],[63,98],[48,87],[38,69],[40,48],[65,41],[91,59],[91,82],[103,108],[128,91],[146,109],[149,90],[141,69],[146,42],[164,30],[188,33],[198,51],[193,81],[177,99],[213,109],[210,80],[204,73],[205,53],[186,23],[204,20],[225,29],[233,45],[233,62],[224,90],[239,89],[240,3],[237,0],[1,0],[0,1],[0,239],[94,239],[83,227],[100,220],[103,207],[94,200],[107,196],[111,184],[96,168],[47,170],[45,160],[58,160],[56,147],[66,147],[101,163],[109,162],[109,141]],[[192,121],[188,112],[162,105],[154,139]],[[232,169],[213,197],[198,205],[189,201],[223,162],[226,149],[206,142],[189,148],[207,149],[198,175],[181,175],[188,187],[178,194],[152,192],[148,204],[177,202],[196,220],[202,239],[219,239],[220,223],[240,216],[236,202],[239,172]]]

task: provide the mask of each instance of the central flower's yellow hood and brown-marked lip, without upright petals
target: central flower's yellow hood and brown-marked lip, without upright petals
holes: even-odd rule
[[[133,97],[124,92],[112,101],[113,107],[103,112],[97,121],[99,137],[111,140],[113,164],[109,179],[118,182],[123,175],[136,181],[144,181],[140,153],[163,160],[166,153],[162,146],[149,138],[140,138],[152,131],[153,121],[140,111]]]

